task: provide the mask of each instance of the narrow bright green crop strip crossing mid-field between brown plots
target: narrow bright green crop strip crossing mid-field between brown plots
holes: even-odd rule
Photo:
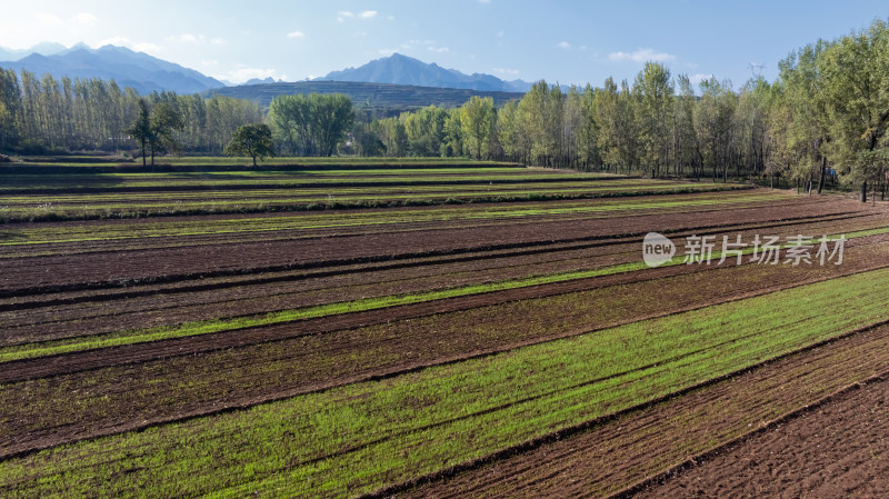
[[[846,238],[849,239],[853,237],[875,236],[879,233],[889,233],[889,227],[853,232],[850,234],[846,234]],[[831,238],[837,238],[837,237],[839,236],[832,236]],[[781,247],[788,248],[790,246],[791,244],[786,243],[782,244]],[[750,255],[752,253],[752,251],[753,248],[746,248],[742,251],[742,255]],[[718,261],[720,257],[721,252],[719,251],[712,252],[713,261]],[[731,255],[731,257],[733,258],[733,255]],[[731,258],[729,258],[729,261],[731,261]],[[677,265],[686,265],[685,261],[679,256],[673,257],[670,261],[663,263],[661,267],[670,267]],[[230,331],[233,329],[280,325],[297,320],[314,319],[319,317],[328,317],[328,316],[350,313],[350,312],[362,312],[368,310],[378,310],[388,307],[421,303],[434,300],[443,300],[448,298],[480,295],[486,292],[506,291],[510,289],[527,288],[531,286],[551,285],[556,282],[566,282],[578,279],[589,279],[592,277],[610,276],[622,272],[633,272],[638,270],[645,270],[647,268],[649,267],[645,262],[636,261],[636,262],[602,267],[592,270],[559,272],[546,276],[531,276],[521,279],[510,279],[499,282],[461,286],[457,288],[447,288],[447,289],[426,291],[420,293],[366,298],[353,301],[282,310],[273,313],[237,317],[233,319],[213,319],[213,320],[193,321],[193,322],[184,322],[182,325],[173,327],[129,330],[129,331],[120,331],[106,335],[68,338],[62,340],[16,345],[16,346],[0,348],[0,363],[13,360],[33,359],[39,357],[71,353],[71,352],[92,350],[99,348],[118,347],[123,345],[134,345],[149,341],[160,341],[174,338],[192,337],[198,335],[208,335],[213,332]]]

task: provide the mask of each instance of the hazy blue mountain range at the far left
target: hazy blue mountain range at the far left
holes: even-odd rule
[[[20,57],[22,52],[29,53]],[[10,59],[3,61],[6,58]],[[17,72],[26,69],[38,77],[52,74],[57,79],[66,76],[113,79],[120,87],[132,87],[143,94],[154,90],[196,93],[226,86],[193,69],[111,44],[92,49],[79,43],[66,49],[63,46],[41,43],[27,51],[0,48],[0,68]]]

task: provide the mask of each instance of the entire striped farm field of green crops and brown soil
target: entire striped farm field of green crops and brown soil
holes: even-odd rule
[[[882,203],[440,160],[16,168],[1,497],[885,489]],[[648,232],[679,253],[647,266]],[[758,236],[776,265],[720,252]]]

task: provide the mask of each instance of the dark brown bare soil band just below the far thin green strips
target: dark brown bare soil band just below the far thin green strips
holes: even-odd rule
[[[632,219],[569,220],[521,226],[472,227],[409,232],[343,234],[296,240],[173,247],[107,253],[58,255],[0,259],[0,296],[52,291],[53,288],[120,287],[157,280],[251,273],[380,261],[452,252],[506,249],[576,240],[643,236],[649,231],[756,223],[796,217],[837,213],[833,203],[768,207],[732,212],[678,213]],[[849,210],[848,206],[847,212]],[[857,211],[857,210],[856,210]],[[363,230],[367,230],[364,228]],[[379,229],[377,229],[379,230]],[[383,229],[384,230],[384,229]],[[296,232],[296,231],[294,231]],[[256,234],[253,234],[256,237]],[[154,241],[159,242],[159,241]],[[246,257],[249,256],[249,257]]]

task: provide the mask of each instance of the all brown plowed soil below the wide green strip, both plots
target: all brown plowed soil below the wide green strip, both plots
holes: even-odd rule
[[[886,491],[889,328],[786,356],[628,411],[513,456],[443,472],[403,497],[607,497],[793,411],[803,416],[730,447],[640,497],[876,497]],[[882,497],[882,496],[880,496]]]

